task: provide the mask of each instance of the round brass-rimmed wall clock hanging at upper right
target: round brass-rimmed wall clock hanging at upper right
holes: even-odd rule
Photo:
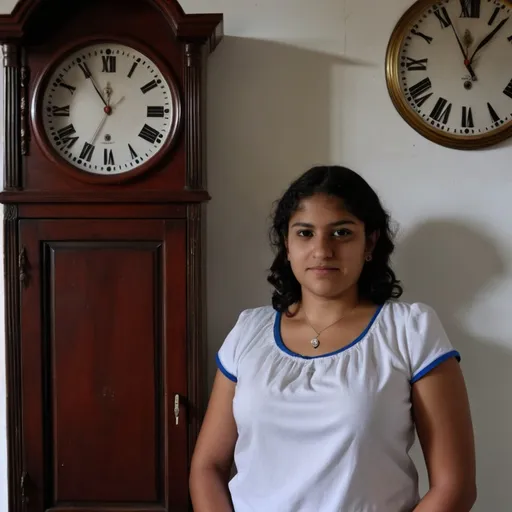
[[[512,135],[512,12],[504,0],[419,0],[386,53],[393,104],[429,140],[456,149]]]

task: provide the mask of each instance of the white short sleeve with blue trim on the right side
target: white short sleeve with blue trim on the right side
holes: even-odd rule
[[[422,303],[411,305],[407,324],[411,384],[454,357],[460,362],[436,312]]]

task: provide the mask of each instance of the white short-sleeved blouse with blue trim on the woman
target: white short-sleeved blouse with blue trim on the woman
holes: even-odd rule
[[[411,385],[460,355],[430,307],[389,301],[348,346],[306,357],[281,314],[243,311],[217,354],[236,382],[235,512],[411,512]]]

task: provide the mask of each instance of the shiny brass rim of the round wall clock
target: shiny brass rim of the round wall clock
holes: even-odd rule
[[[512,7],[511,2],[501,0]],[[439,0],[417,0],[396,23],[386,49],[385,78],[389,96],[404,121],[416,132],[431,142],[451,149],[476,150],[496,145],[512,136],[512,121],[478,135],[460,135],[436,130],[424,121],[409,105],[400,86],[400,54],[405,38],[425,10]]]

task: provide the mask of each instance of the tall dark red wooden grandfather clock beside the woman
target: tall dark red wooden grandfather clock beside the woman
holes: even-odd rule
[[[9,512],[190,507],[205,404],[205,66],[222,15],[0,17]]]

